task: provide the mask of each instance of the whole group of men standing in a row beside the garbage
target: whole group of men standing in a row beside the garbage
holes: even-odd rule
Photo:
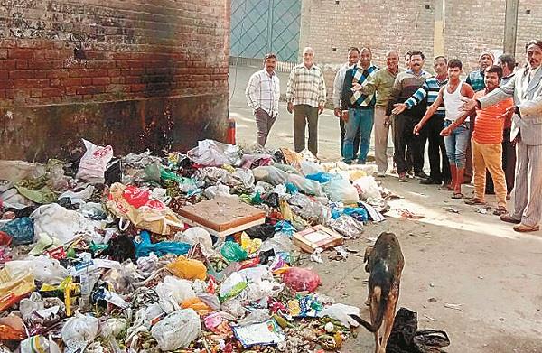
[[[295,151],[304,149],[308,125],[308,149],[316,155],[326,88],[322,70],[313,63],[313,49],[305,48],[303,58],[290,73],[286,100],[294,113]],[[460,79],[463,63],[457,59],[435,57],[435,75],[423,69],[421,51],[406,53],[406,70],[399,69],[394,50],[386,52],[385,68],[371,59],[368,47],[351,47],[334,80],[334,115],[340,122],[344,162],[366,163],[374,127],[378,176],[384,177],[391,127],[399,181],[413,174],[421,183],[438,184],[439,190],[452,191],[453,199],[462,199],[461,186],[473,175],[474,195],[467,204],[485,204],[485,194],[494,192],[494,214],[517,224],[516,231],[537,231],[542,217],[542,41],[528,42],[527,64],[517,71],[511,55],[495,62],[491,51],[483,51],[480,69],[465,81]],[[246,90],[261,145],[277,114],[275,65],[276,57],[266,56],[265,69],[251,77]],[[429,175],[423,171],[425,144]],[[514,209],[508,212],[512,190]]]

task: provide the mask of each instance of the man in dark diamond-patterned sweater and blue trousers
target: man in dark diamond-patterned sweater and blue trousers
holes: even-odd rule
[[[371,64],[372,55],[369,48],[360,51],[360,63],[346,71],[342,85],[341,110],[346,120],[346,135],[342,154],[345,163],[352,163],[354,158],[354,139],[360,131],[360,151],[358,152],[358,163],[365,164],[367,153],[369,153],[370,134],[374,123],[376,95],[364,94],[355,85],[361,85],[378,70]],[[348,110],[347,110],[348,109]]]

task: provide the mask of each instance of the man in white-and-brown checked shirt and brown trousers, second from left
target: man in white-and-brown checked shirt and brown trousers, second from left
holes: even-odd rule
[[[318,115],[325,104],[325,82],[323,73],[314,65],[314,50],[303,50],[303,63],[290,72],[286,89],[288,112],[294,113],[294,149],[301,152],[305,148],[305,126],[309,125],[308,147],[314,155],[318,153]]]

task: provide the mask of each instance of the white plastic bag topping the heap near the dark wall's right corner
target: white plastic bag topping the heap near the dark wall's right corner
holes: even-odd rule
[[[222,144],[214,140],[198,141],[198,146],[186,153],[193,162],[207,166],[220,167],[223,164],[239,165],[240,149],[234,144]]]

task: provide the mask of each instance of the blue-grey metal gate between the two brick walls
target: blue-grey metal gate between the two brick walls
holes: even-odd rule
[[[300,27],[301,0],[232,0],[230,55],[296,62]]]

